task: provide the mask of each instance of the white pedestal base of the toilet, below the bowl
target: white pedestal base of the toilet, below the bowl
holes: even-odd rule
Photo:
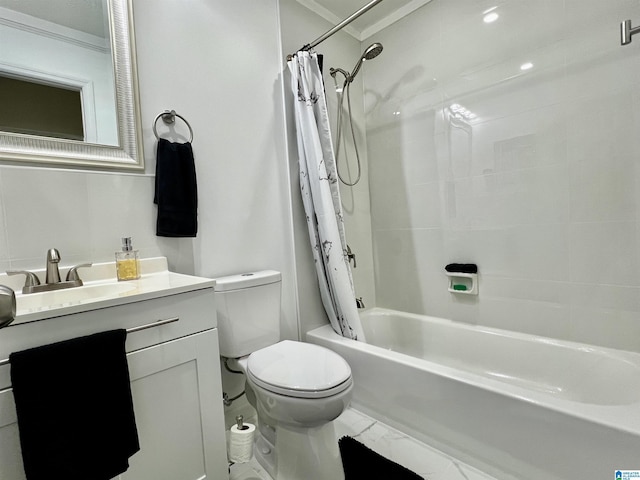
[[[275,445],[265,427],[271,429],[259,428],[254,455],[274,480],[344,480],[333,422],[315,428],[278,426]]]

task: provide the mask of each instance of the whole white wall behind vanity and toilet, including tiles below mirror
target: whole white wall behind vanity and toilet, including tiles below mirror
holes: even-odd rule
[[[64,266],[112,260],[122,236],[183,273],[276,269],[283,336],[297,338],[277,1],[133,3],[146,174],[1,166],[0,269],[42,268],[51,247]],[[194,130],[196,239],[155,236],[151,128],[165,109]]]

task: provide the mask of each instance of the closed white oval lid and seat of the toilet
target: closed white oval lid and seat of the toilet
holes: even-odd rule
[[[269,391],[300,398],[336,395],[351,385],[351,368],[337,353],[284,340],[249,355],[247,373]]]

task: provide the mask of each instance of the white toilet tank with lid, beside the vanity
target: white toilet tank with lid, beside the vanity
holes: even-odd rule
[[[280,272],[216,278],[220,355],[239,358],[280,341]]]

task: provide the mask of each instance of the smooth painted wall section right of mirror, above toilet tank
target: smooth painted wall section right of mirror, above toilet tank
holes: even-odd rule
[[[200,231],[187,261],[208,277],[280,270],[284,334],[297,337],[277,2],[136,0],[134,15],[147,159],[161,111],[194,129]]]

